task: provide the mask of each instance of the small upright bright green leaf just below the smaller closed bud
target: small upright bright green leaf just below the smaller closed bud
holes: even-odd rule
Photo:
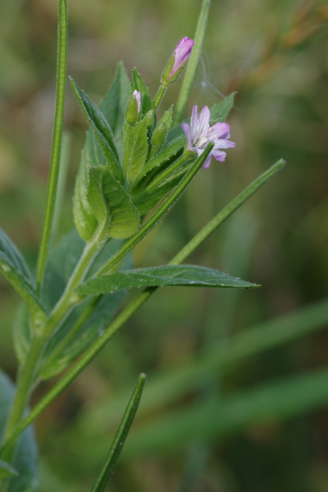
[[[124,139],[123,177],[133,184],[142,173],[148,154],[146,118],[135,126],[128,125]]]

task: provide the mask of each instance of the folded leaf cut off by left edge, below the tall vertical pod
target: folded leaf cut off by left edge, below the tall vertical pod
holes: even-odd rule
[[[46,316],[35,292],[32,276],[23,256],[0,228],[0,273],[16,290],[29,308],[36,323],[43,323]]]

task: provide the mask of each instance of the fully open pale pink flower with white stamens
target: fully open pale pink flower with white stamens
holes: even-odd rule
[[[211,155],[213,155],[216,160],[223,162],[227,154],[219,149],[235,147],[236,144],[227,140],[230,138],[230,126],[227,123],[215,123],[213,126],[209,126],[210,112],[208,106],[205,106],[202,109],[199,118],[197,110],[198,107],[194,106],[191,124],[181,123],[181,126],[187,136],[186,151],[197,152],[199,157],[203,154],[209,142],[214,143],[213,149],[202,166],[207,169],[210,164]]]

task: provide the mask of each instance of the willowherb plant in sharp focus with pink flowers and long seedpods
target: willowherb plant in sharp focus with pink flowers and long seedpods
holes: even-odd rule
[[[0,397],[5,408],[0,421],[3,427],[0,448],[2,491],[35,489],[33,466],[27,466],[24,461],[24,454],[28,454],[32,461],[35,458],[31,451],[33,438],[30,430],[23,431],[158,287],[257,287],[216,270],[182,263],[283,166],[282,160],[213,217],[168,265],[134,269],[129,254],[168,213],[200,168],[209,167],[211,156],[222,162],[226,157],[222,149],[236,145],[230,141],[229,125],[224,123],[233,106],[234,94],[211,109],[206,106],[200,116],[197,106],[194,106],[191,120],[181,124],[203,44],[208,12],[209,0],[204,0],[195,41],[187,37],[179,41],[163,70],[154,98],[135,68],[130,81],[122,62],[119,62],[114,81],[99,107],[70,79],[89,130],[74,189],[76,228],[60,243],[50,247],[66,82],[67,6],[66,0],[59,0],[57,103],[36,282],[19,250],[0,231],[0,272],[23,301],[14,327],[19,370],[11,404],[13,390],[5,376],[0,379],[0,394],[7,395]],[[176,82],[186,64],[176,111],[170,107],[157,120],[156,111],[165,92]],[[147,215],[156,206],[152,215]],[[116,315],[127,289],[131,287],[145,289]],[[31,393],[40,381],[60,374],[76,360],[29,410]],[[146,375],[141,374],[93,492],[102,491],[107,485],[137,410],[145,380]]]

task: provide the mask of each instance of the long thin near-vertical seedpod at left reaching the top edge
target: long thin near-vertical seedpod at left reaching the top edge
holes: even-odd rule
[[[40,293],[43,274],[46,268],[51,232],[53,228],[54,208],[57,191],[58,170],[60,163],[60,145],[64,117],[65,85],[67,61],[67,3],[59,0],[58,23],[58,60],[57,60],[57,92],[56,111],[53,134],[53,147],[50,161],[46,212],[42,230],[42,238],[37,265],[37,291]]]

